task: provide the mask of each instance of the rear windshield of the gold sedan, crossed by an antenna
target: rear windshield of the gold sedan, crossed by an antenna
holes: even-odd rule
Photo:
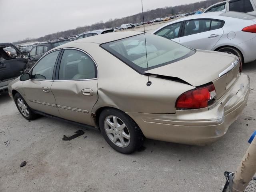
[[[146,45],[144,34],[140,34],[101,44],[101,47],[140,73],[144,73],[147,67],[152,69],[171,64],[195,52],[195,50],[154,34],[146,34]]]

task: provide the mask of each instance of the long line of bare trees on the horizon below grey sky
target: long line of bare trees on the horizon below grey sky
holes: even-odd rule
[[[193,11],[198,10],[199,8],[207,8],[207,7],[211,6],[212,4],[215,4],[220,1],[222,1],[222,0],[206,0],[206,1],[200,1],[200,2],[191,3],[191,4],[184,4],[184,5],[178,5],[178,6],[166,6],[164,8],[147,10],[146,12],[144,12],[144,21],[148,21],[148,20],[152,20],[152,19],[160,18],[160,17],[176,15],[179,12],[181,12],[181,13],[193,12]],[[143,18],[142,18],[142,12],[141,12],[141,13],[131,15],[131,16],[126,16],[123,18],[109,19],[106,22],[100,21],[100,22],[94,23],[90,26],[88,25],[88,26],[83,26],[83,27],[77,27],[77,28],[71,29],[71,30],[48,34],[48,35],[40,37],[40,38],[26,38],[24,40],[19,40],[17,42],[13,42],[13,44],[21,44],[21,43],[31,42],[31,41],[44,42],[44,41],[54,40],[56,38],[63,37],[63,36],[65,37],[65,36],[77,35],[82,32],[86,32],[86,31],[90,31],[90,30],[97,30],[97,29],[102,29],[102,28],[112,28],[112,27],[121,26],[122,24],[126,24],[126,23],[138,23],[138,22],[142,22],[142,21],[143,21]]]

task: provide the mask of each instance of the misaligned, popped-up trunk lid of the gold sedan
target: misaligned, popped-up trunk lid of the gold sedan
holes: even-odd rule
[[[148,70],[148,73],[179,78],[194,87],[213,82],[218,99],[239,76],[239,63],[232,67],[236,60],[237,57],[231,54],[197,50],[188,58]]]

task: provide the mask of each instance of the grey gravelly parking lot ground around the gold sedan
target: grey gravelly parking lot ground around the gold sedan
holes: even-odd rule
[[[146,31],[160,25],[147,25]],[[236,170],[256,128],[256,62],[245,64],[243,72],[251,80],[247,106],[219,141],[188,146],[146,139],[130,155],[113,150],[98,130],[47,117],[29,122],[1,95],[0,192],[221,191],[224,171]],[[78,130],[84,134],[62,140]]]

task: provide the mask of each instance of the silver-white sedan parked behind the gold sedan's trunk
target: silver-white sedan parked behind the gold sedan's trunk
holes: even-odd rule
[[[185,46],[234,54],[243,63],[256,60],[256,17],[212,12],[181,18],[153,32]]]

